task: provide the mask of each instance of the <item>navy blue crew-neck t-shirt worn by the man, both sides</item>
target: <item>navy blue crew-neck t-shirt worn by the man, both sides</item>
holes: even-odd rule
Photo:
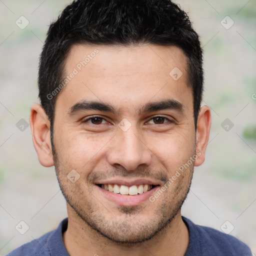
[[[232,235],[194,224],[182,216],[189,232],[189,244],[184,256],[252,256],[249,247]],[[67,218],[58,227],[41,237],[12,250],[6,256],[69,256],[62,233],[67,229]]]

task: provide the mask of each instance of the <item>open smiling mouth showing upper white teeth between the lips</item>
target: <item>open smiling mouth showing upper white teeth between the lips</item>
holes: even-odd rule
[[[157,185],[152,184],[139,184],[139,185],[119,185],[119,184],[96,184],[97,186],[108,190],[109,192],[113,192],[116,194],[128,194],[128,195],[136,195],[136,194],[142,194],[149,190],[151,190],[153,187]]]

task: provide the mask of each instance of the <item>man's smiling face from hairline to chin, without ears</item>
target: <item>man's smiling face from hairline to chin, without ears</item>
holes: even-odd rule
[[[95,48],[98,53],[78,70]],[[68,206],[111,240],[149,239],[179,211],[192,177],[195,129],[185,55],[176,46],[75,45],[65,75],[74,68],[79,72],[57,97],[53,126],[54,163]],[[115,112],[83,101],[108,104]],[[161,101],[168,104],[143,107]],[[108,184],[115,184],[113,192],[104,189]],[[118,193],[120,185],[127,193],[132,185],[142,192],[139,185],[145,184],[152,189]],[[130,193],[137,193],[134,186]]]

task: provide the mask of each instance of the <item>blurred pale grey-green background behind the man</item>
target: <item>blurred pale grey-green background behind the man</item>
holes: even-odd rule
[[[54,168],[39,164],[30,128],[20,131],[16,123],[28,122],[30,105],[38,102],[38,56],[50,21],[69,2],[0,1],[0,255],[55,228],[66,216]],[[230,234],[256,255],[256,2],[175,2],[200,35],[203,104],[212,114],[206,159],[195,167],[182,214],[219,230],[230,221]],[[15,23],[21,15],[29,21],[24,29]],[[29,225],[23,235],[15,229],[20,220]]]

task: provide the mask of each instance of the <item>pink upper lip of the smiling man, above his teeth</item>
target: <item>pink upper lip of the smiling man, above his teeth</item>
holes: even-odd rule
[[[159,185],[159,182],[148,179],[148,178],[138,178],[138,179],[113,178],[113,179],[98,180],[95,184],[118,184],[118,185],[132,186],[132,185],[140,185],[140,184]]]

